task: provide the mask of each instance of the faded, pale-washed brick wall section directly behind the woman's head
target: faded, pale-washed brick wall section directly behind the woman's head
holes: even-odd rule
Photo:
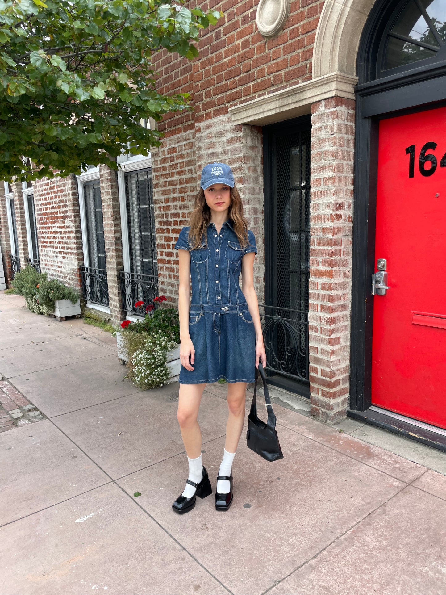
[[[212,161],[224,161],[233,169],[248,226],[256,236],[255,286],[262,302],[262,131],[254,126],[233,126],[228,115],[168,136],[159,151],[152,153],[159,292],[169,303],[177,303],[178,253],[173,246],[181,228],[189,225],[202,167]]]

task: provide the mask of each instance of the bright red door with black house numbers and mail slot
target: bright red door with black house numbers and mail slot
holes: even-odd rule
[[[378,259],[372,403],[446,428],[446,108],[379,124]]]

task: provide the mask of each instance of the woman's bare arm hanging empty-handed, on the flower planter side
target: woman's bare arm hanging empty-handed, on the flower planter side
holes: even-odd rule
[[[180,288],[178,289],[178,317],[180,318],[180,361],[188,370],[195,359],[195,349],[189,335],[190,306],[190,252],[178,250],[178,267],[180,271]],[[189,355],[190,361],[189,363]]]

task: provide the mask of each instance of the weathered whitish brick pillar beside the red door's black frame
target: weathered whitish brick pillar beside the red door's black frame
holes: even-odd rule
[[[345,417],[350,375],[354,102],[312,105],[309,343],[312,414]]]

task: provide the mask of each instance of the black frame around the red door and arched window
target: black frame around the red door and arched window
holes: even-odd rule
[[[366,411],[372,403],[372,274],[379,120],[446,105],[446,62],[418,62],[411,70],[370,81],[379,40],[397,4],[388,0],[375,3],[357,58],[350,343],[350,409],[356,411]]]

